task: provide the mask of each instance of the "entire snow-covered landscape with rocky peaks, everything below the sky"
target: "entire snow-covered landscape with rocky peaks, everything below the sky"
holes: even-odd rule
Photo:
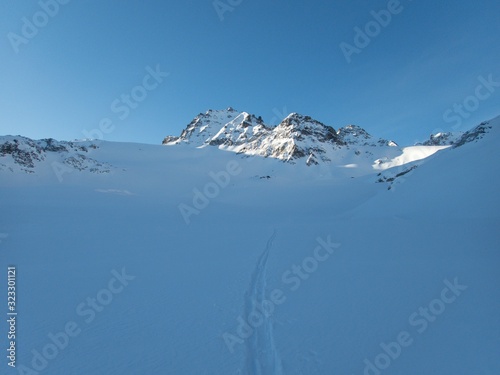
[[[2,373],[498,375],[499,129],[401,148],[226,110],[167,146],[0,137]]]

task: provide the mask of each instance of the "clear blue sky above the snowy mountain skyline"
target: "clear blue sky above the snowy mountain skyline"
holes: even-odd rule
[[[498,0],[54,1],[0,4],[0,134],[72,140],[105,119],[105,140],[158,144],[232,106],[411,144],[500,115]],[[147,67],[169,75],[141,89]]]

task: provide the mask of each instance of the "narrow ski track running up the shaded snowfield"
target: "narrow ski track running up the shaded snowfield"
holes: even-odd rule
[[[256,303],[261,304],[266,293],[266,269],[269,253],[273,246],[276,230],[269,238],[266,248],[262,252],[257,266],[252,274],[250,286],[245,293],[245,314],[244,319],[248,319],[252,311],[259,311],[263,323],[253,328],[252,335],[246,340],[247,346],[247,372],[252,375],[282,375],[283,368],[281,359],[274,342],[272,314],[266,316],[256,309]]]

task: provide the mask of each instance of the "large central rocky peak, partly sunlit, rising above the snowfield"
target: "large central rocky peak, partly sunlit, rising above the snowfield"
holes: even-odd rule
[[[362,149],[398,147],[393,141],[374,139],[356,125],[335,130],[310,116],[291,113],[272,127],[266,125],[260,116],[238,112],[233,108],[200,113],[180,136],[168,136],[163,144],[217,146],[240,154],[271,157],[291,163],[304,160],[307,165],[330,163],[347,150],[353,150],[358,156],[367,153],[373,156],[373,152]]]

